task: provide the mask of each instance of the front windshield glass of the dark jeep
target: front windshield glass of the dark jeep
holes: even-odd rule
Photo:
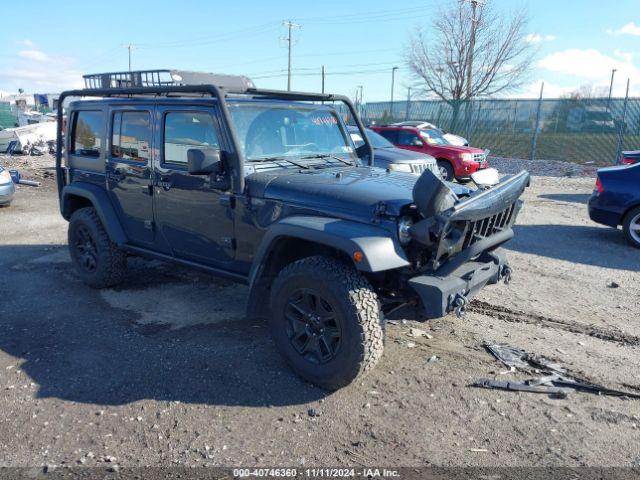
[[[229,110],[248,161],[309,155],[357,160],[342,122],[325,106],[238,102]]]

